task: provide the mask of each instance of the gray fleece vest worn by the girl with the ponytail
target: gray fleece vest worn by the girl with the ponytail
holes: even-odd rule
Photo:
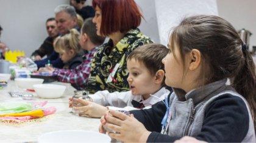
[[[206,85],[204,87],[204,94],[201,92],[202,88],[194,89],[185,94],[185,96],[183,91],[174,89],[174,93],[170,96],[169,102],[172,117],[169,122],[168,135],[199,135],[204,125],[205,109],[215,101],[216,98],[228,93],[243,99],[249,113],[249,130],[242,142],[256,142],[252,115],[246,100],[236,93],[232,87],[226,86],[225,83],[226,80],[222,80]],[[185,101],[178,100],[178,98],[181,99],[182,97],[185,97]]]

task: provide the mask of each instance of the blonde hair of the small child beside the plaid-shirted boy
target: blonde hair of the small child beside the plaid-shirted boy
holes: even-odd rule
[[[81,50],[79,44],[79,32],[73,28],[68,34],[57,37],[54,40],[54,50],[57,53],[64,53],[68,50],[74,50],[75,54],[79,53]]]

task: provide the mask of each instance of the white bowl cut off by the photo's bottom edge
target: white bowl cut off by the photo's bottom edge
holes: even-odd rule
[[[63,130],[52,131],[39,136],[38,143],[55,143],[55,142],[110,142],[111,138],[105,134],[83,131],[83,130]]]

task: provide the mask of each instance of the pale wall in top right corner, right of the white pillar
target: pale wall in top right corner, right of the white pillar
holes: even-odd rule
[[[256,1],[255,0],[217,0],[219,16],[229,21],[236,30],[245,28],[252,35],[249,50],[256,46]],[[256,63],[255,63],[256,64]]]

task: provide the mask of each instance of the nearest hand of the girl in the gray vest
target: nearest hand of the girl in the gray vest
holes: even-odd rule
[[[127,116],[119,111],[110,110],[109,115],[105,115],[105,127],[116,133],[109,132],[108,136],[123,142],[146,142],[150,131],[146,130],[144,125],[133,115]],[[104,124],[104,119],[101,119]],[[136,130],[134,130],[136,128]],[[104,130],[101,130],[104,132]]]

